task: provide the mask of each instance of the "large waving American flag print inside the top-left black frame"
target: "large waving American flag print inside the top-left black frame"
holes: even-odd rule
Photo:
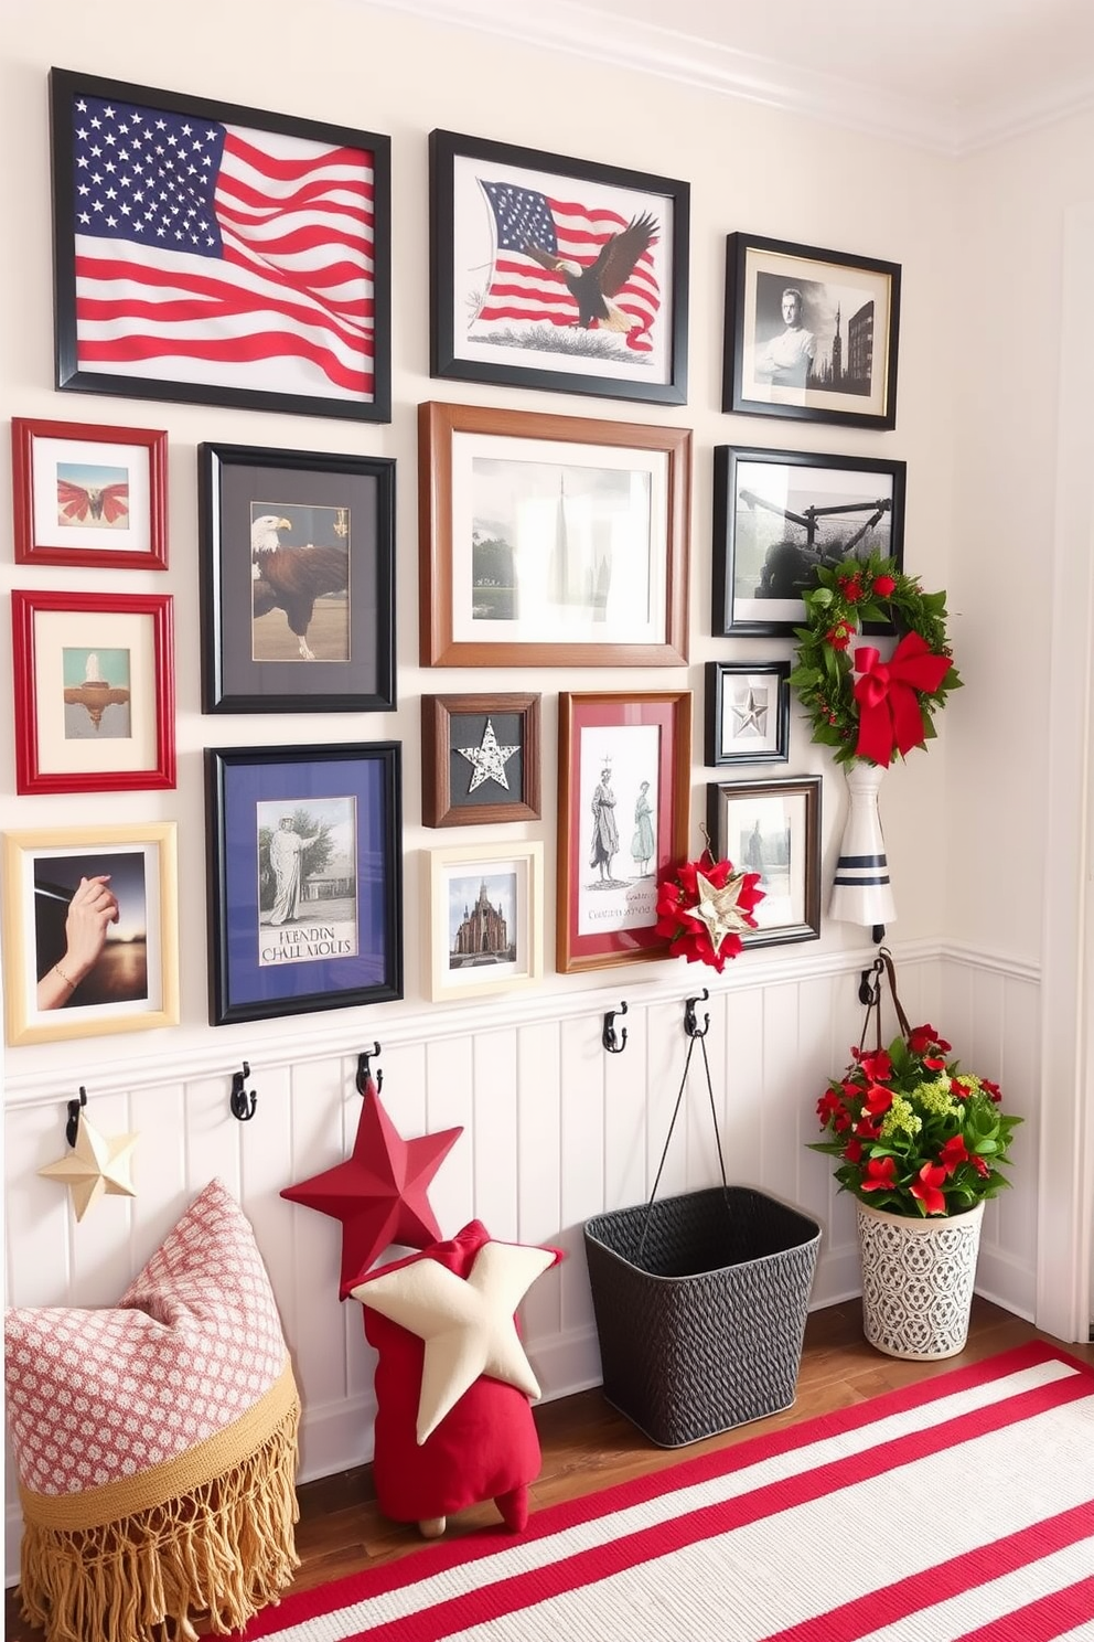
[[[372,401],[376,153],[325,130],[74,89],[75,369]]]

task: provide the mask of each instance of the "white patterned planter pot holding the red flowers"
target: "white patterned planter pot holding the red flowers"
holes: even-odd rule
[[[928,1220],[856,1209],[869,1343],[887,1356],[956,1356],[969,1332],[984,1204]]]

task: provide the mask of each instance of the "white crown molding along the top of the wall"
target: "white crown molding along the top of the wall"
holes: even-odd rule
[[[356,5],[402,11],[458,28],[517,39],[540,49],[610,62],[695,85],[723,97],[740,97],[791,113],[823,120],[960,158],[1048,125],[1094,103],[1094,82],[1083,80],[1058,95],[979,108],[941,108],[927,99],[902,97],[884,85],[864,87],[814,69],[795,69],[773,57],[733,51],[717,41],[681,34],[658,25],[628,21],[577,0],[540,0],[517,11],[512,0],[351,0]]]

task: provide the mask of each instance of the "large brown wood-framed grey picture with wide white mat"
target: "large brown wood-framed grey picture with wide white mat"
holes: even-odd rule
[[[691,432],[418,406],[423,667],[687,662]]]

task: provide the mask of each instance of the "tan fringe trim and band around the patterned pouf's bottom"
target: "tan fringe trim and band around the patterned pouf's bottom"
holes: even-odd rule
[[[279,1410],[274,1422],[271,1407]],[[277,1601],[300,1566],[294,1542],[299,1422],[300,1399],[287,1366],[256,1409],[228,1427],[236,1458],[220,1475],[210,1476],[205,1466],[175,1498],[74,1525],[57,1522],[59,1511],[46,1520],[46,1507],[57,1501],[21,1493],[25,1511],[30,1506],[20,1558],[23,1617],[41,1626],[48,1642],[198,1642],[190,1616],[220,1635],[239,1631]],[[244,1424],[259,1433],[248,1453],[235,1440]],[[208,1458],[217,1442],[195,1452]],[[177,1476],[177,1461],[171,1468]],[[123,1486],[110,1483],[93,1493]]]

